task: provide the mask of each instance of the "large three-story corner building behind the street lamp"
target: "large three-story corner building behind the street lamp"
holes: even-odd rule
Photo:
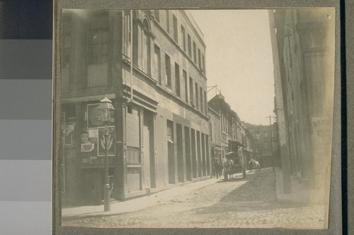
[[[64,204],[103,198],[105,96],[114,198],[210,176],[205,43],[188,11],[66,10],[61,41]]]

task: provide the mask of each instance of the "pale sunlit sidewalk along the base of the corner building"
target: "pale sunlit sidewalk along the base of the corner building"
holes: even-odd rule
[[[178,196],[185,195],[187,193],[196,191],[200,188],[210,186],[222,179],[207,179],[204,181],[197,181],[193,183],[187,183],[184,186],[176,186],[174,188],[167,189],[165,191],[159,191],[152,193],[152,195],[142,196],[139,198],[133,198],[123,202],[113,201],[110,203],[110,211],[105,212],[103,205],[81,206],[81,207],[69,207],[62,209],[62,219],[74,219],[82,217],[97,217],[104,215],[117,215],[126,212],[135,212],[145,209],[152,205],[159,203],[166,203],[168,201],[177,198]]]

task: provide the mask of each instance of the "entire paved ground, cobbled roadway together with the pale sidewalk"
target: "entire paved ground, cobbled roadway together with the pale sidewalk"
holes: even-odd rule
[[[292,179],[292,193],[282,193],[280,169],[220,181],[207,179],[112,202],[109,212],[103,205],[65,208],[62,219],[66,226],[84,227],[326,228],[326,207],[310,200],[314,194],[306,183]]]

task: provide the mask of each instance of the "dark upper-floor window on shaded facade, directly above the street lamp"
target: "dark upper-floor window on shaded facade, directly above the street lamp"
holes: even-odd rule
[[[90,32],[89,64],[108,62],[108,14],[92,17]]]

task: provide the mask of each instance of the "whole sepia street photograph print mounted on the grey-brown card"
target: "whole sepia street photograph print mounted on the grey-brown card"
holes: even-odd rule
[[[62,227],[328,229],[335,8],[62,9]]]

